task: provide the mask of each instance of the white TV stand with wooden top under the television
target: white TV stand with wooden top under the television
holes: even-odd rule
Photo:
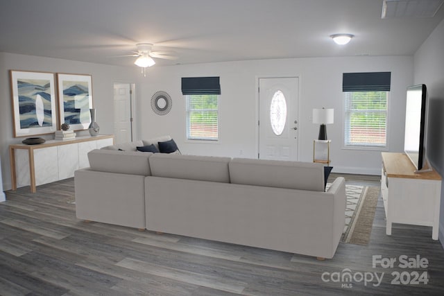
[[[415,173],[404,153],[382,153],[381,195],[386,213],[386,234],[392,223],[431,226],[438,239],[441,176],[434,170]]]

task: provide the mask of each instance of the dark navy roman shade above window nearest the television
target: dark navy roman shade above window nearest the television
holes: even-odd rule
[[[389,92],[391,72],[343,73],[343,92]]]

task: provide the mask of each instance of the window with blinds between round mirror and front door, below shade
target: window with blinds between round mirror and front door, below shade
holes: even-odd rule
[[[187,101],[187,139],[219,140],[219,95],[190,94]]]

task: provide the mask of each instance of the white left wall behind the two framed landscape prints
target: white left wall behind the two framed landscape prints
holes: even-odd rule
[[[8,146],[21,143],[22,138],[13,137],[12,99],[10,96],[9,70],[44,71],[51,73],[76,73],[92,75],[92,94],[97,110],[97,123],[101,134],[112,134],[114,125],[113,83],[139,82],[142,80],[136,67],[113,67],[104,64],[76,62],[31,55],[0,53],[0,157],[3,187],[11,189],[10,159]],[[80,134],[88,134],[87,131]],[[38,136],[53,139],[53,134]]]

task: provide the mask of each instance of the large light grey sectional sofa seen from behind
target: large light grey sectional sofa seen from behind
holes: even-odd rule
[[[103,149],[88,157],[75,173],[80,219],[323,258],[339,244],[345,180],[325,192],[321,164]]]

